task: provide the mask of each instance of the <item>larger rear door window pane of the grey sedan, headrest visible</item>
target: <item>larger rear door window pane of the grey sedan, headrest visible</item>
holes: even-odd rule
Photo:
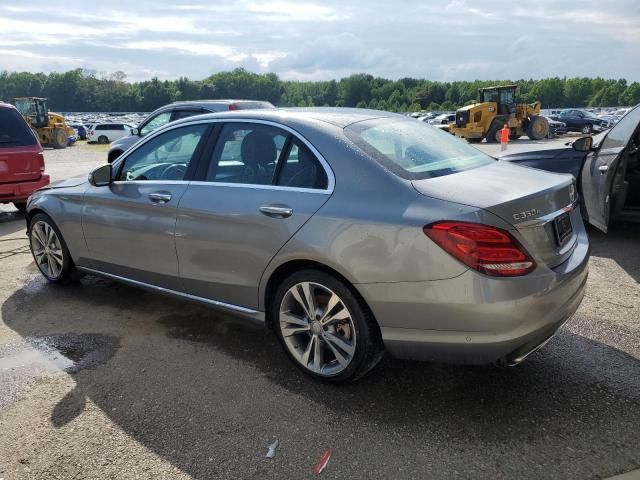
[[[272,185],[288,134],[262,124],[226,124],[213,151],[209,182]]]

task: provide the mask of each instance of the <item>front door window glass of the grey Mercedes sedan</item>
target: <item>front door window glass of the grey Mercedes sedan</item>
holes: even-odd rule
[[[118,180],[184,180],[206,129],[188,125],[161,133],[125,158]]]

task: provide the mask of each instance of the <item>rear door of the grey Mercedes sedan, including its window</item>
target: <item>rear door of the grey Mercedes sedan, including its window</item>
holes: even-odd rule
[[[256,309],[268,263],[327,201],[333,175],[284,126],[227,123],[209,151],[178,207],[180,277],[192,295]]]

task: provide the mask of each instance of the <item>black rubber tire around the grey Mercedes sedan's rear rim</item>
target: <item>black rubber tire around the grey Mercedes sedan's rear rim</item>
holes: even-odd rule
[[[304,366],[290,351],[290,347],[288,347],[285,342],[280,316],[281,305],[285,299],[285,295],[288,294],[290,289],[298,284],[307,282],[326,288],[336,294],[348,310],[351,320],[349,325],[352,324],[355,330],[355,351],[348,365],[335,375],[318,374],[308,368],[308,366]],[[287,277],[276,290],[273,303],[270,305],[270,318],[273,319],[273,329],[287,356],[305,374],[318,380],[328,382],[355,381],[375,367],[384,355],[384,346],[380,337],[380,330],[367,306],[363,304],[347,284],[333,275],[322,271],[302,270]],[[324,329],[327,330],[327,327],[324,327]],[[308,331],[308,334],[311,334],[311,329]],[[324,334],[321,332],[321,335]],[[309,337],[303,337],[303,341],[304,338]],[[320,342],[320,344],[328,346],[326,341],[324,341],[324,343]],[[325,351],[330,352],[330,350]],[[335,361],[337,360],[334,360],[334,362]]]

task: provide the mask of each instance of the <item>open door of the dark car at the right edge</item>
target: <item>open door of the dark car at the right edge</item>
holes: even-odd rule
[[[640,107],[625,115],[600,147],[587,155],[581,172],[582,205],[589,223],[606,233],[615,206],[624,204],[626,152],[639,128]]]

